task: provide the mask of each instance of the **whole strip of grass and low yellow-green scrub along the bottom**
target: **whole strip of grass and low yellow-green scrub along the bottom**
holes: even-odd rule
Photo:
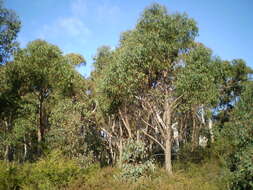
[[[91,165],[81,168],[55,152],[35,163],[0,162],[0,190],[225,190],[224,168],[217,160],[173,163],[173,176],[157,167],[150,177],[122,181],[120,170]]]

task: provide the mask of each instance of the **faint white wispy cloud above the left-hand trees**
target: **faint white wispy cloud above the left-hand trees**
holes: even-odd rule
[[[119,6],[107,0],[71,0],[68,9],[69,15],[46,23],[35,32],[35,37],[60,45],[63,49],[83,47],[92,37],[92,31],[85,23],[89,21],[87,19],[93,19],[93,23],[88,22],[91,27],[115,24],[120,19]]]

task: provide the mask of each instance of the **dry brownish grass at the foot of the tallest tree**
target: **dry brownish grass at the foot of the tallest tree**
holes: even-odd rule
[[[68,190],[218,190],[225,189],[220,180],[221,168],[215,162],[190,164],[185,169],[176,164],[173,176],[159,168],[151,178],[135,183],[115,179],[117,169],[98,169],[72,183]]]

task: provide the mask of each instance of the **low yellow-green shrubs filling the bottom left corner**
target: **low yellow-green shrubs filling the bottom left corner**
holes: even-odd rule
[[[83,170],[59,151],[52,151],[32,164],[0,162],[0,189],[62,189]]]

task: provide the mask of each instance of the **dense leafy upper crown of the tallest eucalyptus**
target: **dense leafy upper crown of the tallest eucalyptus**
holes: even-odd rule
[[[123,33],[119,48],[98,80],[102,108],[115,113],[156,84],[171,85],[179,54],[193,46],[197,33],[195,21],[185,14],[168,14],[158,4],[145,9],[136,28]]]

